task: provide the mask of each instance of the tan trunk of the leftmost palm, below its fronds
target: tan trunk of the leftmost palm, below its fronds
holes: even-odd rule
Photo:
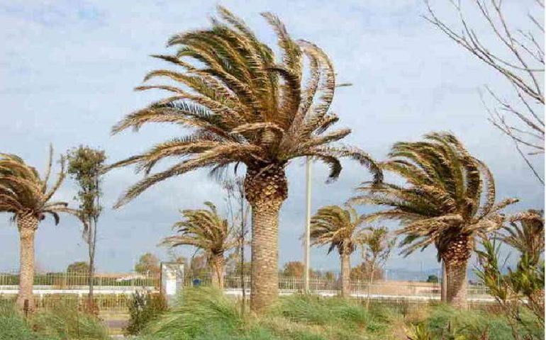
[[[18,215],[17,227],[21,240],[19,245],[21,253],[19,257],[19,294],[16,304],[20,310],[28,308],[28,312],[32,312],[34,309],[34,235],[38,229],[38,217],[31,214]]]

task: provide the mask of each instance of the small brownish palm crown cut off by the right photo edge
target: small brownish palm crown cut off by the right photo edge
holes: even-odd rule
[[[528,210],[510,218],[500,235],[502,242],[521,254],[527,254],[531,265],[540,261],[544,252],[544,212]]]

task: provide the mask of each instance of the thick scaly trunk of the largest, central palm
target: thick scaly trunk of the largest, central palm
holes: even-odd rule
[[[288,193],[284,168],[249,166],[245,193],[252,207],[252,283],[250,309],[262,312],[277,300],[279,210]]]

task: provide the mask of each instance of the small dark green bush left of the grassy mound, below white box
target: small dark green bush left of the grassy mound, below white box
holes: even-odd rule
[[[133,335],[140,333],[147,324],[167,310],[167,300],[162,294],[136,292],[129,305],[127,333]]]

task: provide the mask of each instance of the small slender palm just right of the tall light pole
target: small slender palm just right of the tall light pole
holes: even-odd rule
[[[311,244],[324,246],[329,244],[328,254],[338,249],[341,265],[341,296],[350,295],[351,290],[351,254],[357,249],[362,238],[362,216],[355,208],[341,208],[328,205],[319,209],[311,217]]]

